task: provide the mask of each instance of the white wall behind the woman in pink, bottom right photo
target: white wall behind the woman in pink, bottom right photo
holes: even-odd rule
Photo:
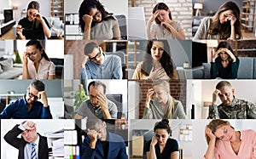
[[[236,130],[253,129],[256,131],[255,121],[253,120],[229,120],[230,124]],[[193,124],[193,141],[192,141],[192,158],[202,158],[207,151],[207,141],[205,139],[205,127],[210,120],[194,120]]]

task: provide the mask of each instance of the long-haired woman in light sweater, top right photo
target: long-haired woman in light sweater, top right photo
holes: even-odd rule
[[[231,39],[241,38],[240,10],[236,3],[224,3],[213,17],[201,20],[195,33],[195,39]]]

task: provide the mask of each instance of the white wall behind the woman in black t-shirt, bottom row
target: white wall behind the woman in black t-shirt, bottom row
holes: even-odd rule
[[[148,129],[154,131],[154,123],[160,122],[159,119],[131,119],[128,125],[128,140],[132,139],[132,130],[141,130]],[[179,128],[181,124],[192,124],[191,120],[169,120],[171,128],[172,128],[172,138],[177,139],[179,147],[183,148],[183,157],[192,156],[192,142],[191,141],[179,141]],[[196,139],[196,138],[194,138]],[[143,145],[142,145],[143,146]],[[131,150],[131,145],[129,145],[129,149]]]

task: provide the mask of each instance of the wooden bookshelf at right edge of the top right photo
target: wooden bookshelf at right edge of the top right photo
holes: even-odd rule
[[[255,20],[255,0],[242,0],[241,7],[241,26],[247,31],[254,30]]]

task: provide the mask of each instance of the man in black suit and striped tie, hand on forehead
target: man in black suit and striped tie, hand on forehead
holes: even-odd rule
[[[21,138],[17,138],[21,133]],[[47,138],[37,133],[36,124],[25,121],[4,135],[5,141],[19,150],[18,159],[48,159]]]

